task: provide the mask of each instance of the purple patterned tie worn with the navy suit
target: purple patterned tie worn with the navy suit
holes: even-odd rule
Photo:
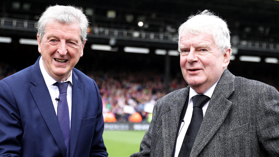
[[[62,135],[67,147],[67,157],[69,157],[69,145],[70,145],[70,118],[69,107],[67,102],[67,88],[69,81],[63,83],[54,83],[59,88],[59,101],[57,107],[57,117],[62,131]]]

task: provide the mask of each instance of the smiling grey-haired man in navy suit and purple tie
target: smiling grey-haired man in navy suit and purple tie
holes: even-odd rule
[[[0,156],[108,156],[102,99],[75,69],[88,20],[71,6],[51,6],[38,21],[36,63],[0,81]]]

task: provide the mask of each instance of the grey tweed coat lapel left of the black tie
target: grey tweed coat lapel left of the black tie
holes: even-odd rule
[[[170,111],[162,116],[162,145],[165,157],[172,155],[180,114],[188,97],[189,89],[188,86],[182,90],[182,93],[174,95],[173,101],[168,104]]]

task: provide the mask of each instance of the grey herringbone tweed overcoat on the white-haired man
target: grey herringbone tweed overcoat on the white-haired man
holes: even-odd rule
[[[140,152],[131,157],[171,157],[189,86],[158,100]],[[279,93],[227,69],[214,89],[191,157],[279,156]]]

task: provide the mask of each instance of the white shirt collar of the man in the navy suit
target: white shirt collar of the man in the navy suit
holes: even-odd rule
[[[55,81],[55,80],[47,73],[47,70],[44,68],[42,57],[41,57],[40,60],[39,60],[39,65],[40,65],[40,69],[41,69],[42,75],[43,75],[43,77],[44,77],[44,81],[45,81],[46,84],[47,84],[47,87],[53,85],[53,83],[56,83],[57,81]],[[68,78],[66,81],[63,81],[63,82],[67,82],[67,81],[70,81],[71,84],[73,84],[73,81],[72,81],[72,70],[71,70],[71,74],[70,74],[69,78]]]

